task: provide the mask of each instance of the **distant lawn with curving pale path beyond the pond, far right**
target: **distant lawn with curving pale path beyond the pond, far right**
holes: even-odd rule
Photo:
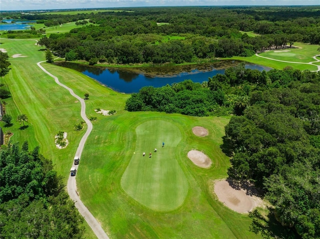
[[[317,51],[318,46],[298,43],[298,42],[294,43],[293,46],[297,48],[265,51],[260,53],[259,55],[263,57],[276,59],[276,60],[299,62],[299,63],[275,61],[271,59],[258,57],[256,55],[253,55],[250,57],[233,56],[231,58],[225,58],[225,59],[243,60],[253,64],[260,64],[260,65],[264,65],[264,66],[268,66],[268,67],[271,67],[274,69],[280,69],[280,70],[283,69],[285,66],[292,66],[293,69],[299,69],[299,70],[311,70],[311,71],[317,70],[317,67],[315,65],[301,64],[301,63],[315,61],[312,58],[312,56],[319,54],[319,52]]]

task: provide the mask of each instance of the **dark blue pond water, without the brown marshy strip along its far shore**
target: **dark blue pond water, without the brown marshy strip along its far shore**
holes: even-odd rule
[[[101,84],[121,93],[137,93],[143,86],[162,87],[166,84],[171,85],[187,79],[191,79],[193,82],[202,83],[203,81],[207,81],[209,77],[216,74],[224,74],[224,69],[214,69],[211,67],[212,69],[209,71],[193,69],[191,71],[184,71],[172,76],[164,75],[161,77],[150,77],[142,73],[134,73],[132,71],[119,68],[92,67],[69,62],[58,63],[58,65],[82,72]],[[245,68],[257,69],[259,71],[268,71],[271,69],[269,67],[254,64],[246,64]]]

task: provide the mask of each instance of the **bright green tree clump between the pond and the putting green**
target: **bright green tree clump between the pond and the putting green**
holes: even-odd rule
[[[211,91],[200,83],[185,80],[161,88],[142,87],[126,101],[125,109],[204,116],[219,108],[224,101],[222,91]]]

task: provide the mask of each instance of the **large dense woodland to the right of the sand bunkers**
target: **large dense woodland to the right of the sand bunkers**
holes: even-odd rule
[[[263,189],[283,226],[303,239],[318,238],[320,74],[287,69],[268,78],[273,87],[250,92],[243,115],[225,127],[229,176]]]

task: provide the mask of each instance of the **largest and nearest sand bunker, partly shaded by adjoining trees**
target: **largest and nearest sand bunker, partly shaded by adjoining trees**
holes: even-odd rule
[[[220,202],[238,213],[248,213],[263,204],[262,199],[252,194],[250,190],[234,187],[226,180],[215,182],[214,193]]]

